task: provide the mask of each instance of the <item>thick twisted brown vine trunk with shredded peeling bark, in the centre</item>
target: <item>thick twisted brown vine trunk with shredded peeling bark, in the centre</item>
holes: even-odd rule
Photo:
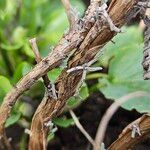
[[[117,27],[121,27],[124,23],[126,23],[126,19],[132,12],[131,10],[135,6],[136,2],[137,1],[134,0],[128,2],[117,0],[115,5],[109,9],[109,16],[112,19],[112,22],[117,24]],[[67,99],[75,94],[76,88],[81,82],[83,70],[73,73],[67,72],[67,70],[75,68],[76,66],[83,66],[84,64],[87,64],[93,60],[96,54],[99,52],[99,48],[96,49],[93,47],[101,45],[100,48],[102,48],[114,37],[114,35],[116,35],[116,32],[111,30],[107,18],[103,17],[102,12],[105,11],[105,6],[106,5],[104,4],[101,7],[98,7],[98,3],[92,3],[85,13],[82,21],[86,22],[87,19],[88,24],[84,23],[84,25],[79,27],[79,30],[82,30],[82,28],[90,29],[86,34],[83,32],[84,40],[78,45],[78,48],[67,63],[67,68],[62,71],[55,83],[56,88],[58,89],[57,101],[54,99],[50,99],[48,101],[43,99],[37,108],[32,119],[32,136],[30,136],[29,142],[30,149],[45,149],[45,144],[43,144],[43,141],[44,143],[46,142],[45,137],[47,137],[49,129],[45,127],[44,124],[51,121],[53,117],[58,116],[63,111]],[[97,11],[99,15],[96,17],[96,20],[93,20],[93,18],[95,18],[93,16],[97,14],[95,13]],[[122,13],[118,14],[117,12]],[[35,139],[34,137],[37,138]]]

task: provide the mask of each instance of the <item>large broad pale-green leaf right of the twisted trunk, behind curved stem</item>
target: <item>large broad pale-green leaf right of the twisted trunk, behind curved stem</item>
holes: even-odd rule
[[[99,79],[101,92],[109,99],[117,99],[135,91],[150,92],[150,81],[143,80],[143,46],[132,44],[130,48],[118,52],[109,65],[109,78]],[[149,112],[148,97],[132,99],[123,108],[139,112]]]

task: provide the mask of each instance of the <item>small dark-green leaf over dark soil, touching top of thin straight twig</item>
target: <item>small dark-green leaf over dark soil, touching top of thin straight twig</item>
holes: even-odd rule
[[[56,125],[58,125],[60,127],[63,127],[63,128],[67,128],[67,127],[69,127],[69,126],[74,124],[73,119],[68,119],[66,117],[54,118],[53,122],[54,122],[54,124],[56,124]]]

